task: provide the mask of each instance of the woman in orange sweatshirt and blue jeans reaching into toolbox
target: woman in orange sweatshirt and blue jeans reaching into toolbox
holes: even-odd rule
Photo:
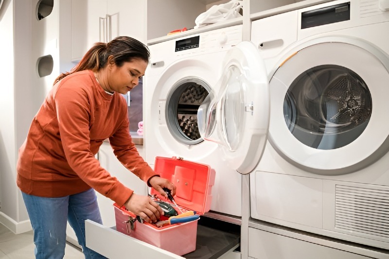
[[[94,190],[147,222],[163,211],[134,193],[99,164],[95,154],[108,138],[119,161],[166,196],[175,186],[141,158],[128,130],[124,97],[138,85],[149,51],[130,37],[96,43],[54,82],[20,147],[17,184],[34,229],[35,257],[63,258],[67,221],[85,258],[104,258],[85,246],[85,220],[102,223]]]

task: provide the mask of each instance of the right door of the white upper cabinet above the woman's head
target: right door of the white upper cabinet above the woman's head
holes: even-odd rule
[[[108,0],[109,38],[130,36],[146,42],[146,1]]]

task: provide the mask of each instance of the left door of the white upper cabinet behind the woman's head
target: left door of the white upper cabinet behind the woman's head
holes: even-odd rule
[[[78,62],[94,43],[106,41],[107,0],[71,1],[71,60]]]

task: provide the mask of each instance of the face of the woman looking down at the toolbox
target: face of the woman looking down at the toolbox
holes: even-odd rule
[[[122,67],[110,64],[109,90],[126,94],[139,84],[139,79],[144,75],[147,64],[141,58],[134,58],[130,62],[124,62]]]

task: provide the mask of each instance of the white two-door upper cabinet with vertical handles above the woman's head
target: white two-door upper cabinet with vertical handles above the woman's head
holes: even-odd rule
[[[145,1],[72,0],[71,59],[78,62],[96,42],[116,36],[145,41]]]

